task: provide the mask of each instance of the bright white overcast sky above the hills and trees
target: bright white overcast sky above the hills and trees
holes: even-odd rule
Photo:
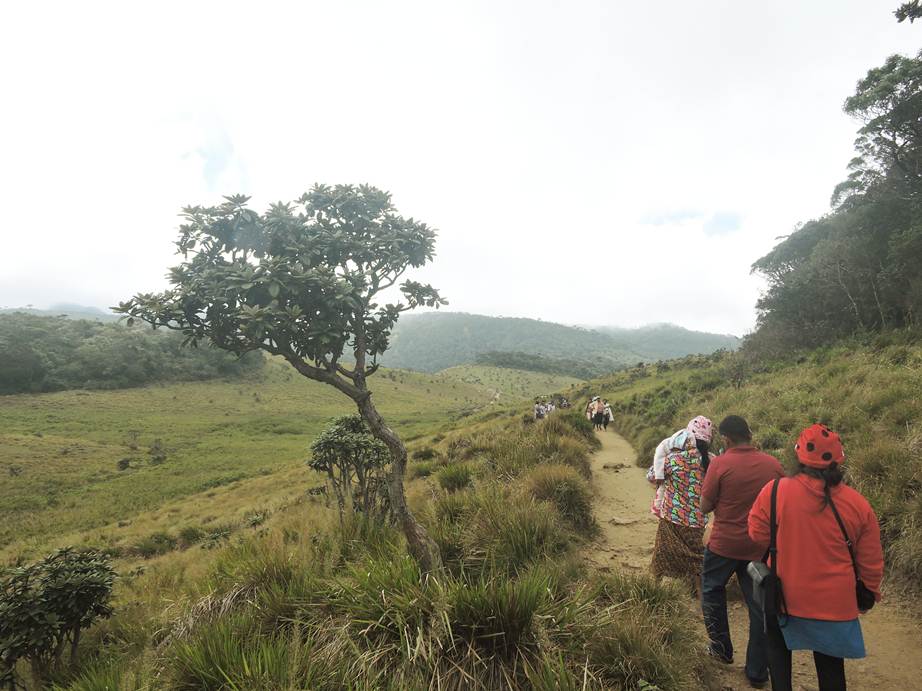
[[[166,287],[177,213],[367,182],[452,310],[742,334],[846,175],[897,0],[0,9],[0,306]]]

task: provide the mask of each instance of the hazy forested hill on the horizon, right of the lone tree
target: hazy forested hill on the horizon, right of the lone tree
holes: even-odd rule
[[[591,361],[600,371],[613,371],[640,361],[732,349],[738,342],[733,336],[703,334],[670,325],[603,332],[537,319],[430,312],[401,317],[384,363],[388,367],[438,372],[477,362],[501,364],[497,354],[509,353],[515,355],[514,366],[524,369],[524,353]],[[483,359],[486,353],[491,354],[489,362]]]

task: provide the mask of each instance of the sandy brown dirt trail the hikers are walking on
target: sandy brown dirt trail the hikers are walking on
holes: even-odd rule
[[[652,490],[628,442],[613,432],[599,433],[602,449],[593,457],[596,516],[602,535],[589,558],[600,569],[646,571],[650,566],[656,518],[650,513]],[[730,627],[736,662],[721,668],[724,691],[749,688],[743,674],[748,622],[737,595],[730,595]],[[690,603],[691,605],[692,603]],[[901,611],[898,602],[884,602],[861,619],[868,657],[846,664],[850,691],[922,689],[922,628]],[[702,624],[703,628],[703,624]],[[794,653],[794,688],[816,691],[816,673],[809,653]]]

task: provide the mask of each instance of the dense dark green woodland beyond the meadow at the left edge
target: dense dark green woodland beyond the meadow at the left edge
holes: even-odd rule
[[[182,342],[182,334],[116,323],[0,314],[0,394],[235,377],[263,364],[258,353],[238,359]]]

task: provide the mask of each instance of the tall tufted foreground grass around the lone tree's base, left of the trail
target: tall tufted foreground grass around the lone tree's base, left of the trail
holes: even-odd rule
[[[595,530],[586,421],[499,412],[415,442],[411,502],[444,574],[421,574],[387,525],[293,504],[125,574],[82,644],[95,662],[59,688],[704,688],[681,590],[577,554]]]

